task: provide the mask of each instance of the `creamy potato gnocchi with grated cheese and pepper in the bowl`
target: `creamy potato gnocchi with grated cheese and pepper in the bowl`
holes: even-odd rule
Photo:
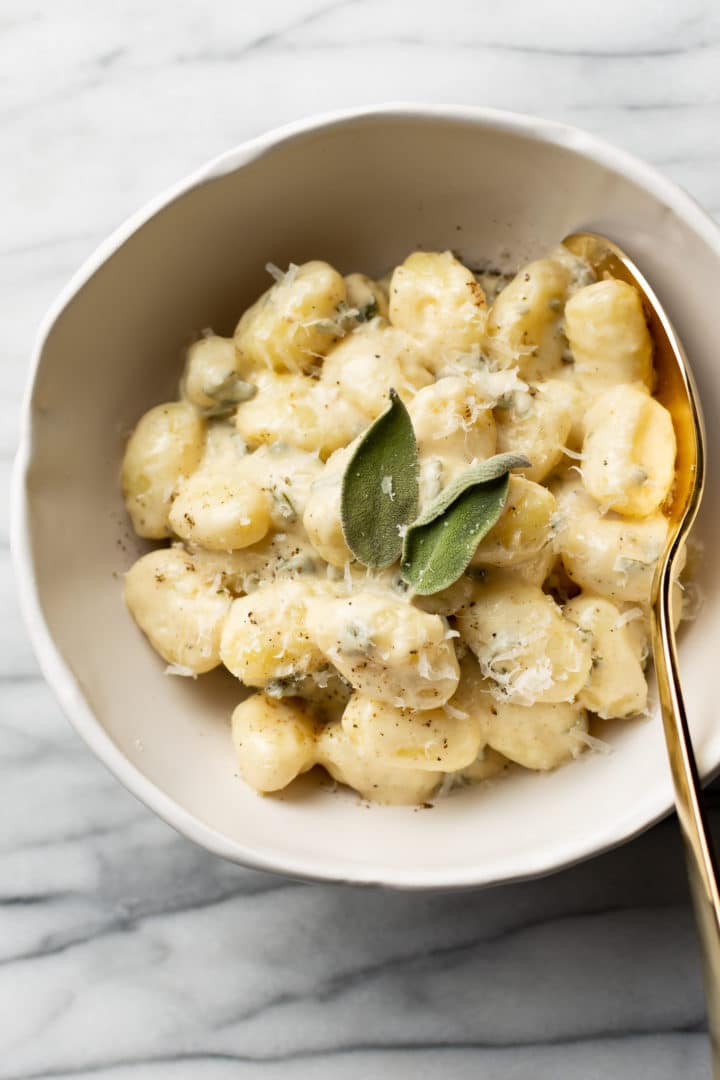
[[[565,248],[512,280],[450,252],[382,280],[268,270],[232,337],[190,346],[122,467],[133,528],[166,542],[125,603],[168,674],[239,680],[246,783],[281,792],[318,766],[364,799],[425,802],[555,769],[596,718],[644,714],[676,437],[637,292]],[[495,454],[529,461],[429,595],[397,562],[356,562],[345,530],[343,477],[391,391],[420,513]]]

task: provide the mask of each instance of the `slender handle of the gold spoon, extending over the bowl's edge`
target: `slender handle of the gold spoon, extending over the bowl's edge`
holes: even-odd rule
[[[685,847],[690,891],[701,939],[712,1076],[720,1080],[720,896],[718,869],[705,812],[695,755],[682,701],[673,629],[673,564],[676,545],[661,576],[653,605],[653,654],[663,729]]]

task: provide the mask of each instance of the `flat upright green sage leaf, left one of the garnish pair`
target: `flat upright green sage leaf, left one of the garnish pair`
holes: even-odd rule
[[[383,567],[400,557],[400,530],[418,512],[418,447],[408,410],[394,390],[390,406],[348,462],[340,507],[342,531],[355,558]]]

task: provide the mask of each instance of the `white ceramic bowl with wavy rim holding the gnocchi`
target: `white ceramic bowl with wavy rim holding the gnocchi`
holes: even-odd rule
[[[43,673],[70,720],[130,791],[186,836],[250,866],[408,888],[545,874],[646,828],[671,805],[657,718],[617,725],[614,753],[547,775],[459,792],[432,810],[367,808],[301,785],[260,798],[229,735],[236,686],[167,678],[124,609],[144,545],[118,477],[144,409],[174,394],[201,327],[230,333],[267,286],[264,264],[325,258],[380,273],[412,248],[504,267],[592,228],[636,259],[685,343],[705,413],[720,415],[720,237],[675,185],[580,131],[454,106],[336,113],[272,132],[200,170],[123,225],[44,322],[14,487],[13,549]],[[701,536],[717,535],[718,426]],[[719,559],[684,631],[681,666],[702,770],[720,765],[714,675]],[[68,793],[70,798],[70,793]]]

